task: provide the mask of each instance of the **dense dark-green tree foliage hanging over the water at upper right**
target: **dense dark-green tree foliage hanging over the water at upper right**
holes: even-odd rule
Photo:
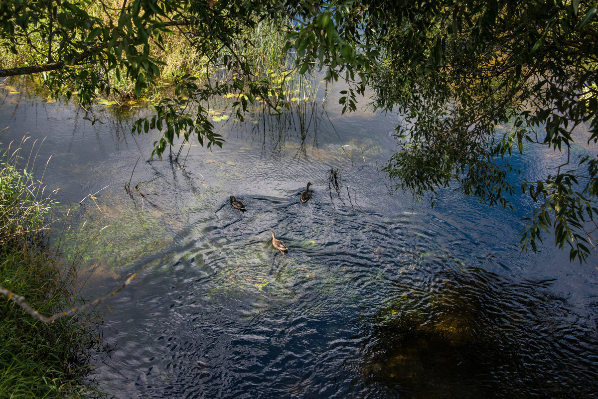
[[[449,0],[396,7],[392,28],[380,36],[385,63],[370,80],[376,105],[405,118],[390,176],[418,197],[450,185],[512,208],[513,149],[565,152],[568,161],[545,179],[517,182],[537,203],[522,243],[536,250],[541,231],[551,232],[556,245],[570,246],[572,260],[584,260],[598,238],[596,160],[576,162],[570,149],[598,141],[595,5]],[[499,124],[512,128],[501,137]],[[590,134],[576,137],[584,125]]]

